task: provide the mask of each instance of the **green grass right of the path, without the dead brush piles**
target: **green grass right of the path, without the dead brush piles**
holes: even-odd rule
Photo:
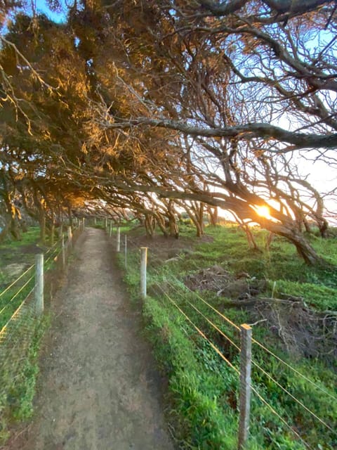
[[[233,449],[237,445],[237,373],[220,359],[209,342],[201,338],[176,305],[236,369],[239,368],[237,349],[204,318],[209,319],[238,346],[239,335],[235,328],[227,325],[202,302],[197,293],[185,287],[185,276],[214,264],[233,274],[248,272],[251,278],[267,281],[264,296],[272,295],[273,290],[275,297],[282,293],[302,297],[305,304],[319,314],[337,309],[336,272],[331,266],[305,266],[293,247],[282,238],[275,238],[269,250],[256,252],[249,250],[244,233],[235,226],[217,226],[207,229],[207,233],[213,239],[195,243],[193,252],[182,254],[170,262],[158,264],[156,258],[154,266],[150,254],[149,296],[143,303],[143,311],[147,335],[153,343],[157,361],[169,378],[170,418],[180,446],[202,450]],[[262,231],[255,233],[256,240],[263,248],[267,236]],[[190,230],[187,236],[190,236]],[[329,241],[329,245],[326,241],[322,245],[319,238],[312,238],[312,244],[323,256],[324,249],[329,249],[329,262],[334,262],[337,260],[337,243],[332,239]],[[135,301],[139,301],[138,259],[135,250],[129,257],[125,275]],[[123,265],[122,257],[120,264]],[[201,297],[234,323],[251,323],[251,310],[228,307],[233,303],[232,299],[218,297],[207,290],[202,292]],[[322,358],[322,355],[310,355],[308,358],[292,352],[285,345],[286,340],[280,338],[279,330],[274,330],[265,322],[253,327],[253,335],[297,372],[263,348],[253,345],[253,360],[256,363],[252,371],[253,387],[269,406],[253,394],[247,449],[298,450],[305,449],[305,443],[319,450],[336,448],[337,376],[330,360]],[[322,336],[319,338],[322,339]],[[278,384],[272,379],[277,380]],[[293,397],[284,392],[280,385]]]

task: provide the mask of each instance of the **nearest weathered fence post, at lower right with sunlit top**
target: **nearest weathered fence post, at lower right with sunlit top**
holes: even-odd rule
[[[249,434],[249,413],[251,409],[251,327],[240,325],[240,394],[239,394],[239,442],[238,450],[244,450]]]

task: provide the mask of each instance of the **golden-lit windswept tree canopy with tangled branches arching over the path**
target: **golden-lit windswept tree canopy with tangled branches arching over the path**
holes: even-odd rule
[[[48,186],[131,206],[149,229],[173,199],[196,226],[202,205],[223,207],[315,264],[303,229],[315,221],[324,235],[324,205],[296,165],[299,150],[329,158],[337,143],[334,8],[93,0],[74,4],[67,25],[41,17],[38,34],[18,16],[1,64],[23,101],[7,103],[4,143],[44,167]]]

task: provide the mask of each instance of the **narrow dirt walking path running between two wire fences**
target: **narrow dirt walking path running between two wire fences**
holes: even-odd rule
[[[160,378],[105,233],[86,229],[55,299],[22,450],[173,450]]]

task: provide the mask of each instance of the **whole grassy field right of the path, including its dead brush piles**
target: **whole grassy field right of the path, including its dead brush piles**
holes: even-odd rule
[[[184,449],[237,446],[239,333],[220,311],[235,325],[256,323],[256,392],[247,449],[332,450],[337,445],[337,239],[310,238],[329,262],[313,268],[286,240],[276,237],[266,250],[267,233],[253,232],[260,251],[249,249],[237,226],[209,227],[199,241],[185,226],[176,257],[164,252],[161,238],[146,243],[139,229],[128,232],[133,253],[125,279],[135,301],[137,245],[150,247],[143,311],[154,354],[169,380],[171,426]]]

